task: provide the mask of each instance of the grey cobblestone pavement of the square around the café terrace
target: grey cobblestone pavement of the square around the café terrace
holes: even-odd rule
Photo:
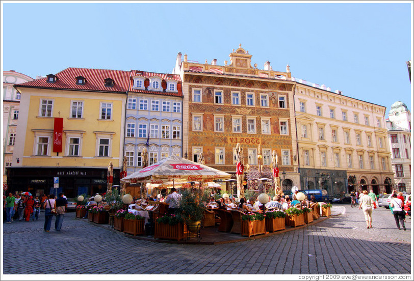
[[[67,213],[61,232],[38,221],[3,223],[4,274],[410,274],[411,218],[397,230],[390,210],[367,229],[357,208],[313,226],[222,245],[131,239]],[[399,255],[397,255],[398,253]],[[4,275],[7,277],[7,275]]]

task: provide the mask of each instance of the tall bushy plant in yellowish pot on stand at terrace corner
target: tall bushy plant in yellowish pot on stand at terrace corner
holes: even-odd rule
[[[182,199],[177,208],[177,216],[187,224],[191,232],[197,232],[204,215],[204,203],[208,201],[209,193],[200,194],[197,190],[185,189],[181,193]]]

